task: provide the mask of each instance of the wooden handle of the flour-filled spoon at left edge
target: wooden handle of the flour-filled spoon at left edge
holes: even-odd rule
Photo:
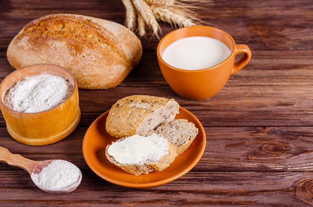
[[[20,154],[13,154],[2,146],[0,146],[0,162],[25,169],[29,174],[32,173],[35,166],[39,163],[39,161],[27,159]]]

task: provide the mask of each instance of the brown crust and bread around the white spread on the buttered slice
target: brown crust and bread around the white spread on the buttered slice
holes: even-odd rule
[[[122,141],[125,138],[127,138],[127,137],[120,138],[116,141]],[[160,138],[163,138],[163,137],[160,137]],[[114,159],[114,157],[112,157],[108,153],[107,150],[111,144],[109,144],[105,147],[105,156],[111,163],[115,164],[116,166],[118,166],[119,168],[123,169],[125,172],[128,172],[130,174],[139,175],[139,174],[147,174],[147,173],[154,171],[154,170],[162,171],[163,169],[168,167],[169,164],[171,162],[173,162],[175,157],[177,156],[176,147],[169,140],[167,140],[167,141],[168,141],[168,149],[167,149],[168,153],[165,154],[163,157],[161,157],[157,161],[146,161],[145,163],[141,163],[141,164],[131,164],[131,163],[121,164],[118,161],[116,161]],[[114,142],[112,142],[112,143],[114,143]]]

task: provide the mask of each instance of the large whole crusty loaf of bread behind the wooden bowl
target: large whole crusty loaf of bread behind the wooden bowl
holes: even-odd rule
[[[119,84],[142,54],[137,36],[125,26],[91,16],[58,13],[27,23],[11,40],[7,59],[15,68],[52,63],[69,69],[79,88]]]

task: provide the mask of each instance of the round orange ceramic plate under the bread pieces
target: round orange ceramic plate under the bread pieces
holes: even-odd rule
[[[109,162],[105,156],[105,147],[117,138],[105,130],[108,111],[96,118],[87,129],[82,141],[83,157],[99,177],[111,183],[127,187],[152,187],[173,181],[190,171],[201,158],[205,148],[205,132],[200,121],[187,109],[180,107],[176,119],[185,118],[195,124],[199,132],[189,148],[177,156],[163,171],[133,175]]]

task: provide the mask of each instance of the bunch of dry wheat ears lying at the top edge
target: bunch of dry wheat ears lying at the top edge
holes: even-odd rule
[[[161,29],[158,21],[169,23],[172,27],[192,26],[201,22],[195,13],[197,3],[207,0],[122,0],[125,12],[125,26],[146,36],[146,29],[159,38]],[[191,4],[189,4],[191,2]]]

